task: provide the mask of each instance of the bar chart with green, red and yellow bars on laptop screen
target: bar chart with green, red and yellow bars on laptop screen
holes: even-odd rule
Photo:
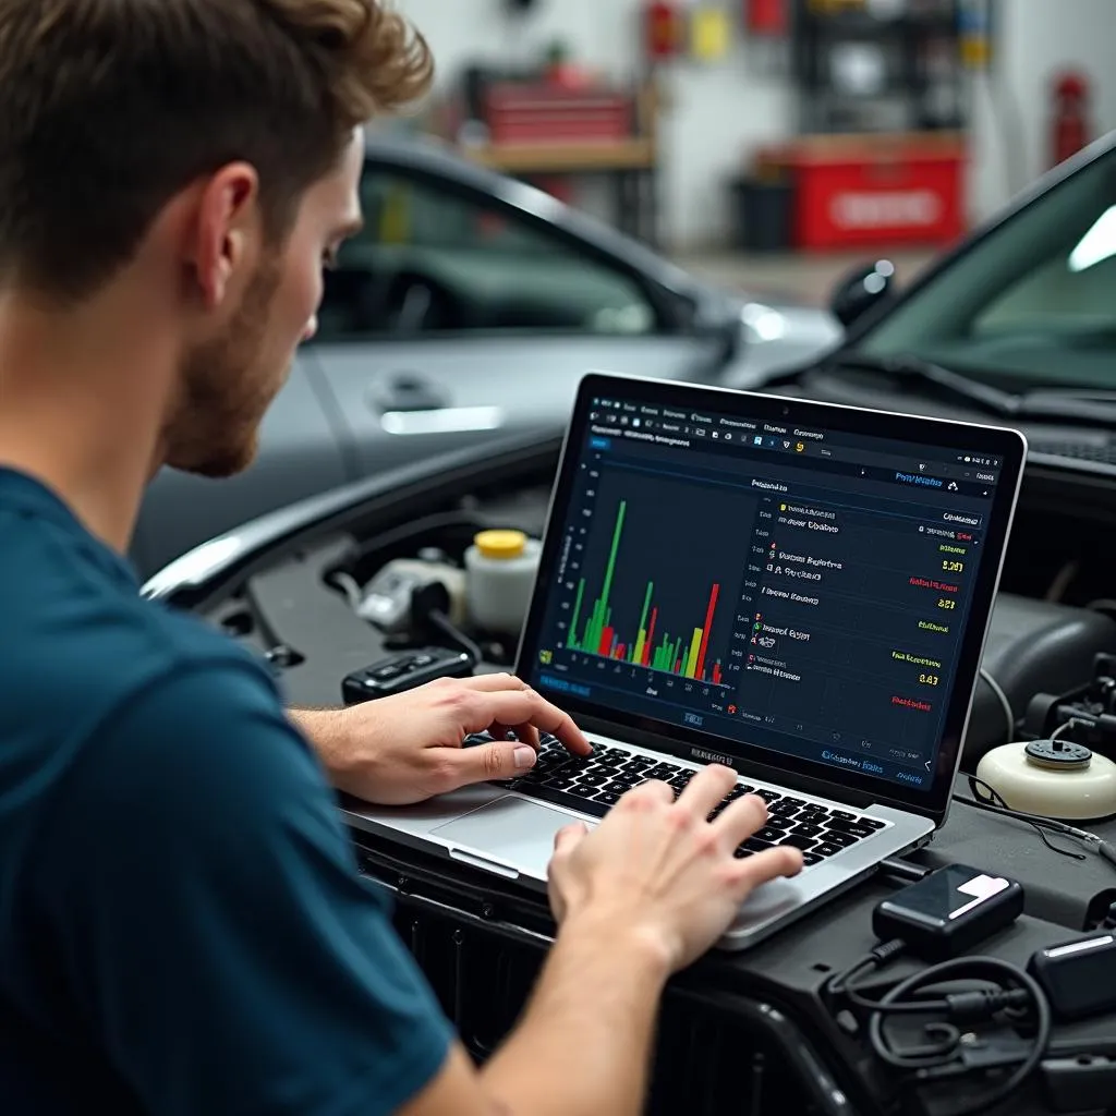
[[[594,496],[566,648],[725,685],[756,498],[634,470],[607,472]]]

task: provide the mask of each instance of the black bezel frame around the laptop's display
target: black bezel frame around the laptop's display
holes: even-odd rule
[[[655,718],[608,709],[574,694],[546,695],[567,710],[585,728],[598,733],[614,733],[622,739],[651,747],[686,760],[698,758],[694,749],[715,754],[742,773],[766,776],[785,785],[818,792],[840,788],[850,800],[896,806],[933,818],[944,819],[961,758],[973,694],[975,692],[989,618],[999,588],[1003,556],[1019,496],[1027,440],[1014,430],[962,423],[952,420],[872,411],[835,403],[819,403],[779,395],[741,392],[729,388],[693,386],[670,381],[645,379],[604,373],[589,373],[578,387],[577,398],[566,431],[558,473],[551,492],[547,528],[539,560],[539,571],[516,658],[516,673],[530,681],[538,662],[546,623],[547,597],[565,532],[565,509],[574,496],[578,464],[588,433],[591,401],[617,397],[631,403],[680,410],[710,411],[745,421],[795,423],[801,426],[910,442],[912,446],[977,452],[1001,459],[1000,478],[987,516],[984,555],[972,587],[965,632],[956,658],[954,685],[943,723],[934,780],[929,790],[920,790],[879,777],[800,759],[762,745],[743,744],[692,727],[672,724]],[[562,509],[559,511],[559,509]],[[739,754],[733,754],[739,753]]]

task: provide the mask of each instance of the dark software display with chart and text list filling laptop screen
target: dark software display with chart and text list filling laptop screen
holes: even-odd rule
[[[535,685],[931,787],[998,458],[605,398],[568,452]]]

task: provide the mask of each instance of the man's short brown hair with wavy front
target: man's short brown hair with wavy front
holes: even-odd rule
[[[381,0],[0,0],[0,282],[81,298],[234,160],[279,240],[353,128],[430,76]]]

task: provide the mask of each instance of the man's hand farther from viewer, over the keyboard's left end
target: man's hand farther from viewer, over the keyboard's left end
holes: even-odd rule
[[[571,752],[589,742],[556,705],[510,674],[441,679],[416,690],[329,712],[295,712],[338,790],[382,806],[405,806],[535,764],[539,731]],[[491,732],[489,744],[462,748]],[[509,732],[516,740],[506,740]]]

